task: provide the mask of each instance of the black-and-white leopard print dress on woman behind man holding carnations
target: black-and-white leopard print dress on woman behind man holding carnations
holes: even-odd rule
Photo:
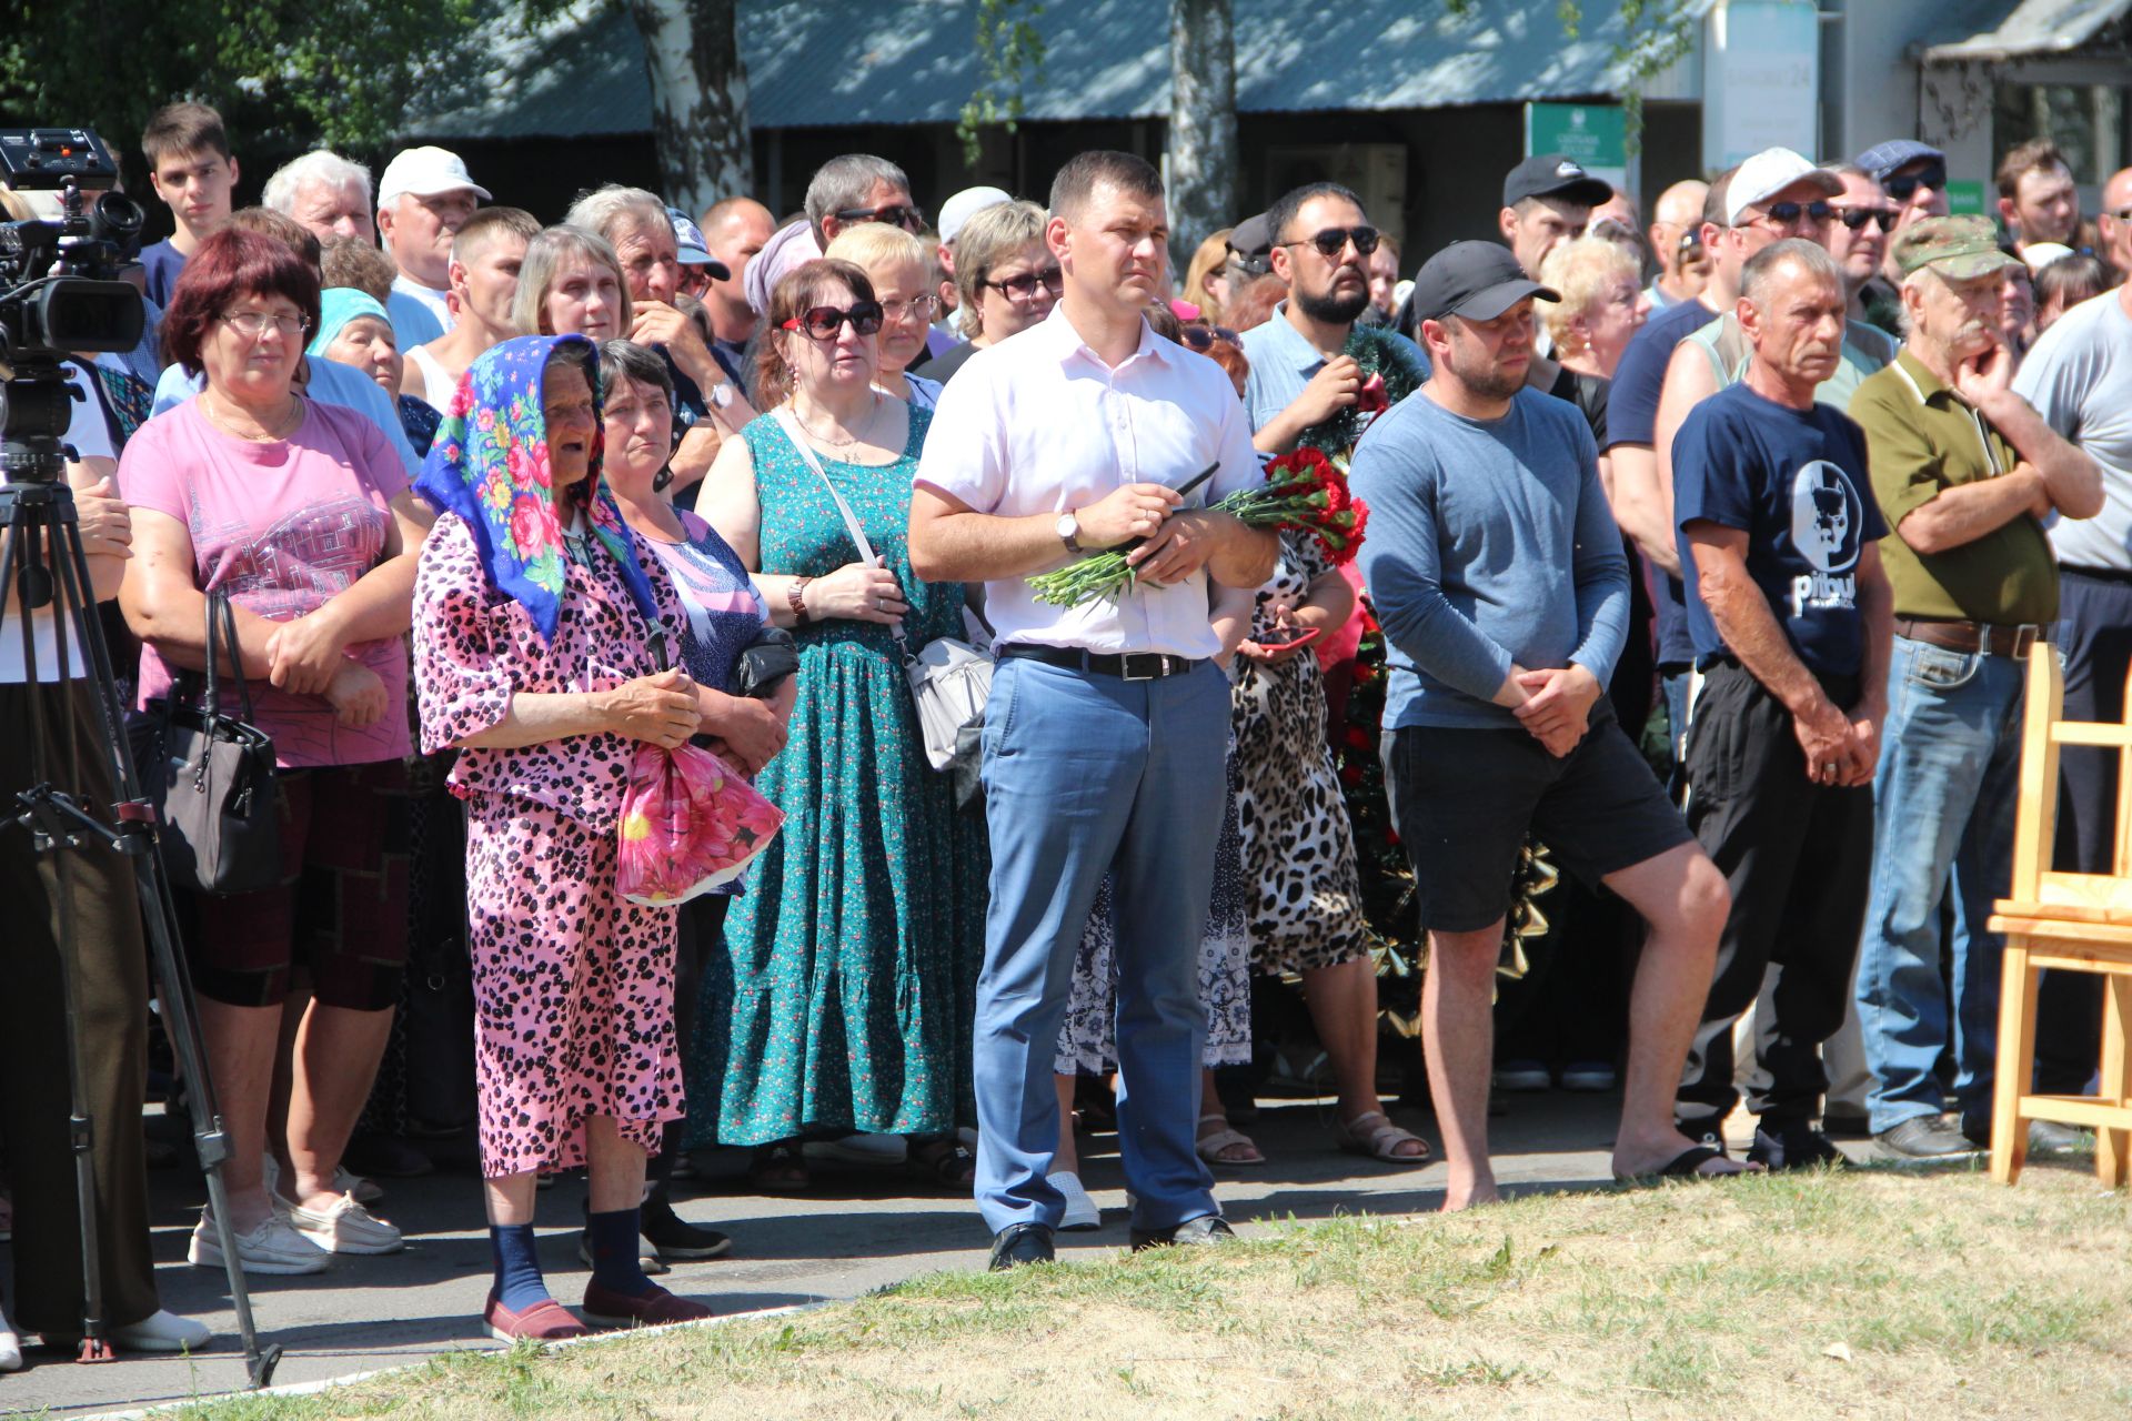
[[[1251,637],[1296,607],[1332,571],[1307,533],[1281,533],[1281,560],[1258,590]],[[1251,971],[1286,976],[1369,952],[1354,831],[1326,746],[1326,692],[1318,656],[1234,660],[1232,726],[1237,827],[1251,886]]]

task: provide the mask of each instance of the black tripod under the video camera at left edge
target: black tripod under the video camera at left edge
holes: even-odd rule
[[[13,441],[0,456],[0,475],[30,475],[30,481],[0,484],[0,530],[9,535],[6,552],[0,554],[0,590],[15,594],[21,622],[19,633],[4,626],[6,605],[0,601],[0,635],[21,637],[23,669],[30,684],[30,767],[32,788],[17,795],[17,805],[0,810],[0,822],[13,818],[30,831],[38,854],[51,854],[58,873],[58,948],[60,982],[66,1010],[68,1040],[68,1089],[70,1118],[68,1144],[75,1157],[75,1193],[81,1208],[81,1361],[113,1359],[109,1323],[102,1306],[102,1253],[96,1231],[96,1174],[92,1146],[96,1121],[90,1116],[83,1093],[83,1061],[90,1042],[81,1040],[79,1014],[79,969],[81,952],[75,937],[72,895],[70,895],[70,852],[100,844],[124,854],[132,865],[134,886],[141,897],[141,918],[147,927],[147,942],[154,954],[158,997],[162,1001],[164,1027],[185,1087],[192,1097],[192,1142],[207,1178],[207,1199],[213,1214],[215,1234],[222,1244],[224,1268],[228,1270],[230,1300],[237,1308],[237,1332],[245,1349],[245,1370],[254,1387],[264,1387],[273,1378],[275,1363],[281,1361],[279,1346],[260,1346],[252,1323],[252,1297],[245,1291],[243,1263],[237,1257],[237,1242],[230,1236],[228,1197],[222,1187],[222,1165],[230,1155],[230,1138],[215,1106],[213,1082],[207,1074],[207,1046],[200,1040],[198,1014],[194,1010],[192,978],[177,957],[177,914],[171,899],[171,882],[156,854],[156,810],[143,793],[134,771],[132,750],[126,739],[124,707],[117,697],[117,682],[111,673],[111,652],[104,643],[102,626],[96,618],[96,599],[90,588],[87,556],[81,545],[81,528],[75,518],[72,490],[64,481],[64,458],[49,452],[23,454]],[[47,554],[49,548],[49,554]],[[30,614],[51,607],[58,631],[58,680],[70,680],[72,650],[85,652],[85,680],[96,699],[96,722],[102,731],[98,746],[81,746],[72,718],[66,722],[64,758],[53,761],[53,735],[45,724],[45,707],[36,695],[41,669],[30,626]],[[102,754],[111,767],[111,784],[117,786],[117,803],[109,805],[111,822],[98,818],[64,788],[72,782],[81,754]],[[107,1127],[130,1129],[130,1121],[109,1121]]]

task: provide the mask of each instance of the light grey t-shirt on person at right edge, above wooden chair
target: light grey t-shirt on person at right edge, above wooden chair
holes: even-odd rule
[[[2064,567],[2132,573],[2132,315],[2123,288],[2072,307],[2028,352],[2015,394],[2102,464],[2102,511],[2051,522]]]

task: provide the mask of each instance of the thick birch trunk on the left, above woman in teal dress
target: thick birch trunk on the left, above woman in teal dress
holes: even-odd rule
[[[755,192],[736,11],[738,0],[629,0],[644,36],[659,183],[689,213]]]

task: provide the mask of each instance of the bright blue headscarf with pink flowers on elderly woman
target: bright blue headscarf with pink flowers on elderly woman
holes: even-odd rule
[[[542,418],[542,379],[548,358],[563,343],[593,347],[582,334],[516,337],[486,349],[458,377],[452,407],[437,428],[437,441],[414,481],[439,513],[458,513],[473,530],[473,545],[499,592],[533,616],[542,639],[554,639],[563,611],[563,524],[548,499],[548,422]],[[601,413],[599,349],[588,366],[593,379],[593,469],[586,475],[586,520],[595,539],[614,556],[629,597],[655,631],[659,605],[631,548],[614,496],[599,481]]]

